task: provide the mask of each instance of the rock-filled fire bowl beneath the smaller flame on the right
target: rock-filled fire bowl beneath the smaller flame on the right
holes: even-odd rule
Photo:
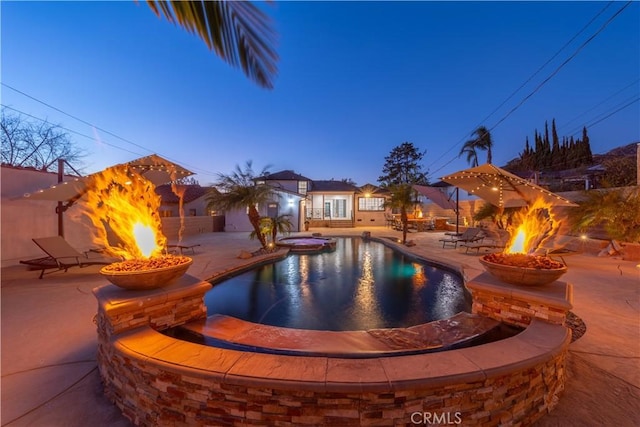
[[[566,265],[543,256],[488,254],[479,261],[489,274],[512,285],[548,285],[567,272]]]

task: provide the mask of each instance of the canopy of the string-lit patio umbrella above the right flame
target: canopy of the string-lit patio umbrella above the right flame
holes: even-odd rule
[[[538,198],[552,206],[578,206],[490,163],[465,169],[441,179],[500,208],[527,206]]]

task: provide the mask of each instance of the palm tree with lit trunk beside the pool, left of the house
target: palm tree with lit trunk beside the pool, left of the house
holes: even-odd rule
[[[267,239],[261,230],[260,213],[257,206],[264,205],[274,199],[275,190],[270,185],[256,184],[255,179],[267,175],[265,167],[258,175],[253,172],[251,161],[244,170],[236,165],[234,172],[229,175],[218,174],[218,181],[214,184],[218,191],[210,191],[207,195],[207,209],[230,211],[247,209],[249,222],[253,233],[258,237],[263,248],[267,248]]]

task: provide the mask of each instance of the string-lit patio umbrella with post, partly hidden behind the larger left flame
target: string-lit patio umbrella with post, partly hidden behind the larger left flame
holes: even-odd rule
[[[110,166],[105,170],[123,166],[136,171],[144,178],[151,181],[154,185],[165,184],[167,182],[193,175],[193,172],[176,163],[170,162],[157,154],[141,157],[127,163]],[[59,167],[61,167],[60,163]],[[44,188],[34,193],[27,193],[24,197],[31,200],[52,200],[59,202],[58,207],[56,207],[56,213],[58,214],[58,234],[62,236],[62,213],[92,189],[94,179],[100,173],[102,172],[84,177],[73,177],[68,181],[58,182],[49,188]],[[63,176],[62,171],[58,171],[58,176],[61,179]],[[62,202],[64,202],[64,204],[62,204]]]

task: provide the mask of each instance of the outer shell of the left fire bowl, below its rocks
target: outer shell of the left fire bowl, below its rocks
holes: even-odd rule
[[[187,272],[191,264],[193,264],[193,259],[189,257],[184,258],[187,258],[188,261],[178,265],[172,265],[170,267],[162,267],[151,270],[114,272],[105,271],[105,268],[103,267],[102,269],[100,269],[100,274],[102,274],[114,285],[119,286],[123,289],[157,289],[174,283]]]

